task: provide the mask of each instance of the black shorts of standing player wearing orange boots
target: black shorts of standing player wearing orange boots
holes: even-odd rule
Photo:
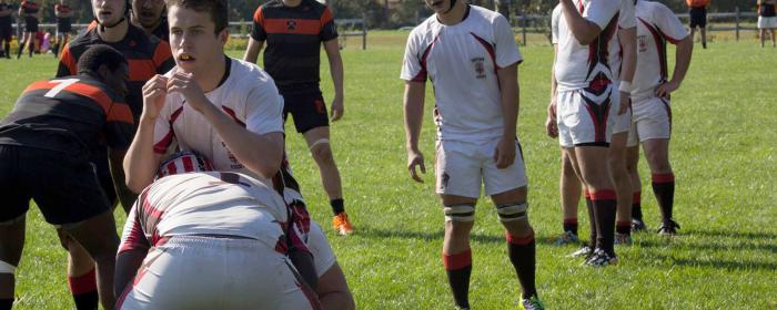
[[[315,127],[330,125],[326,104],[320,91],[299,94],[283,94],[283,121],[291,113],[296,132],[305,133]]]

